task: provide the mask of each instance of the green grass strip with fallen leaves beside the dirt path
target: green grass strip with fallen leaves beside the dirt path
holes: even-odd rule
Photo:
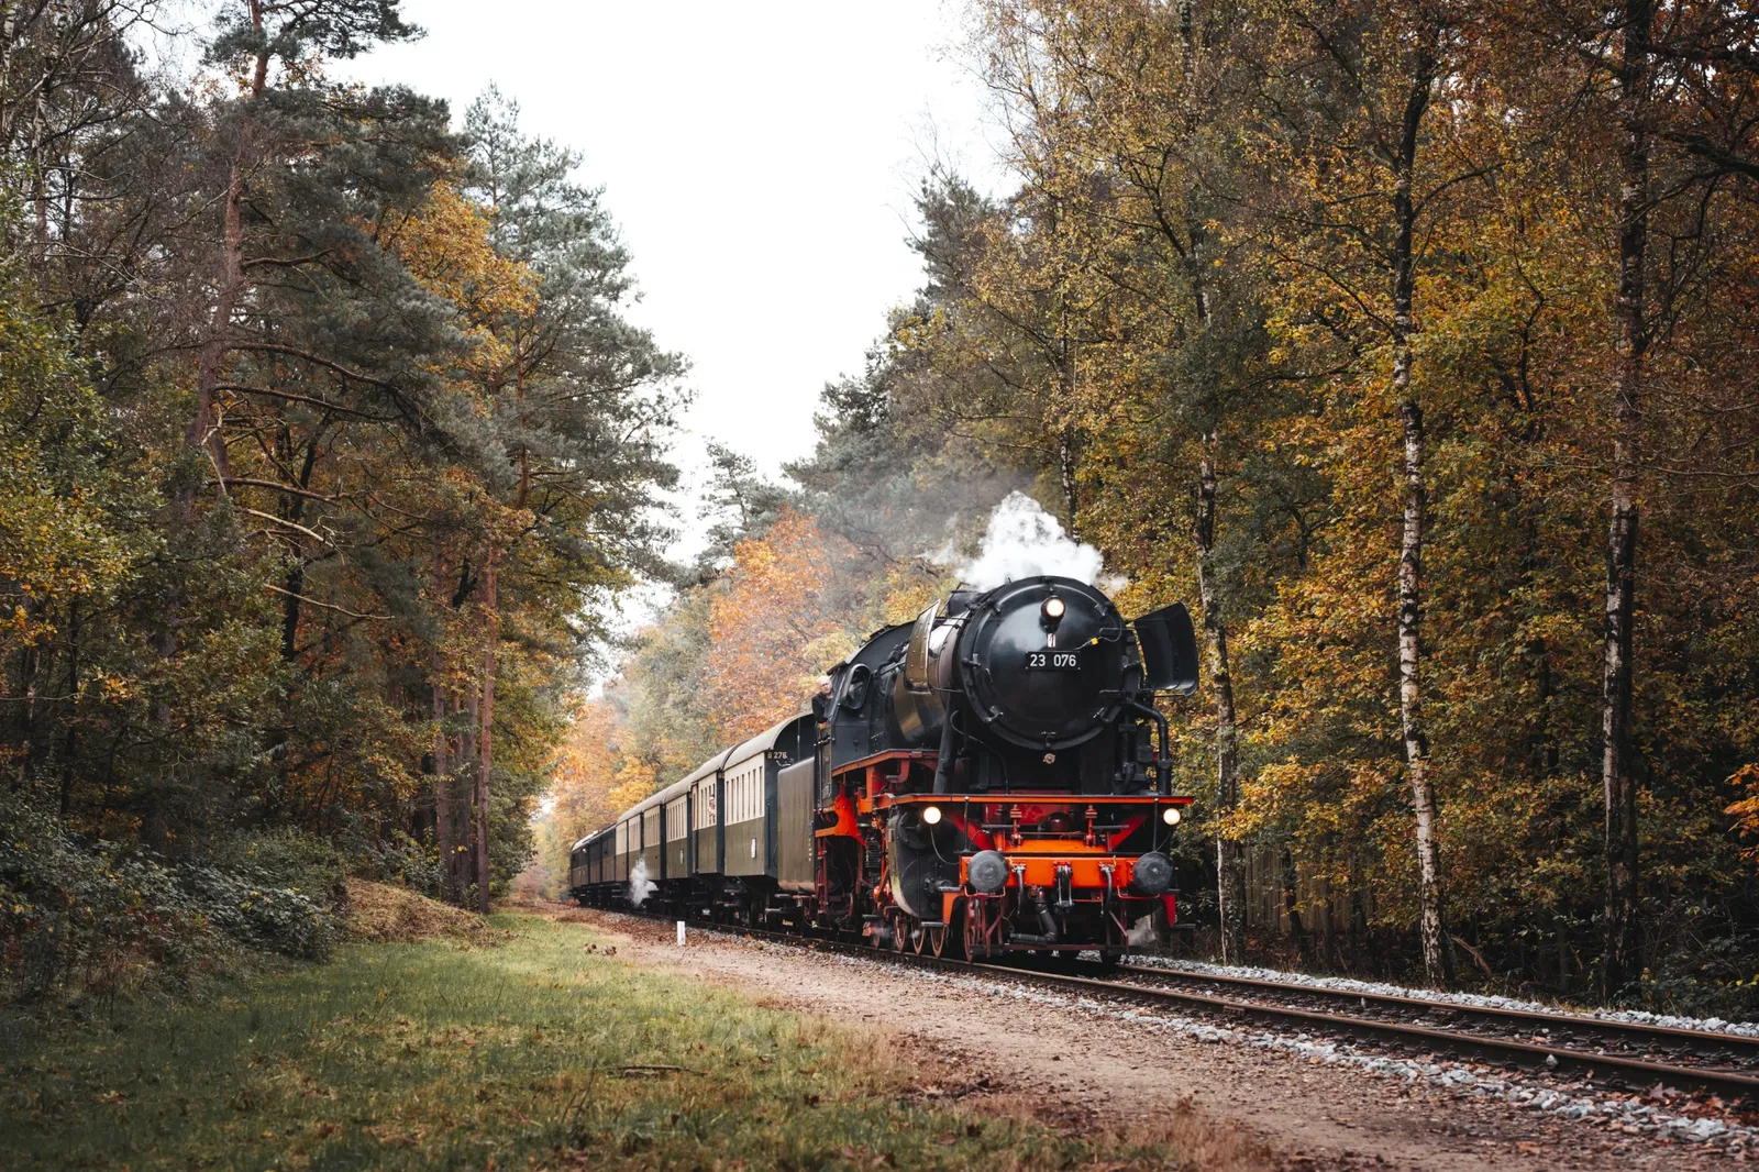
[[[577,924],[496,919],[493,949],[350,945],[195,1007],[0,1022],[0,1165],[1164,1167],[927,1107],[929,1075],[878,1035],[589,952]]]

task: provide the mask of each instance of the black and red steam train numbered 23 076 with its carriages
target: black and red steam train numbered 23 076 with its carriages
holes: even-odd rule
[[[864,936],[932,956],[1099,950],[1177,924],[1157,692],[1191,616],[1124,621],[1069,577],[957,590],[876,632],[809,713],[705,760],[570,852],[582,905]]]

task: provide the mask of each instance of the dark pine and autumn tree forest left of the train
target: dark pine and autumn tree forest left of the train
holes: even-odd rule
[[[338,65],[394,0],[5,7],[0,956],[23,998],[322,956],[345,871],[489,908],[684,361],[579,157]]]

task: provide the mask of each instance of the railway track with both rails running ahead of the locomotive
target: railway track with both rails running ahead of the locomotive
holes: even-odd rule
[[[700,926],[799,949],[844,952],[948,973],[1006,977],[1062,987],[1096,1000],[1180,1012],[1238,1028],[1295,1028],[1333,1038],[1372,1040],[1405,1054],[1483,1061],[1534,1075],[1574,1075],[1597,1086],[1708,1091],[1727,1103],[1759,1107],[1759,1038],[1676,1029],[1543,1010],[1511,1010],[1376,993],[1346,993],[1289,982],[1117,966],[1106,977],[1013,964],[953,961],[874,949],[846,940],[795,936],[755,927]]]

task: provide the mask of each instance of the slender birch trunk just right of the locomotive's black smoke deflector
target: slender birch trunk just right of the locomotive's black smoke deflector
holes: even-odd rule
[[[1215,700],[1215,815],[1226,818],[1240,804],[1240,734],[1233,711],[1233,674],[1228,669],[1228,626],[1210,568],[1215,547],[1215,461],[1205,452],[1198,465],[1198,516],[1193,526],[1198,546],[1198,600],[1208,642],[1210,695]],[[1221,829],[1215,832],[1215,882],[1221,905],[1223,964],[1245,963],[1245,861],[1240,845]]]

